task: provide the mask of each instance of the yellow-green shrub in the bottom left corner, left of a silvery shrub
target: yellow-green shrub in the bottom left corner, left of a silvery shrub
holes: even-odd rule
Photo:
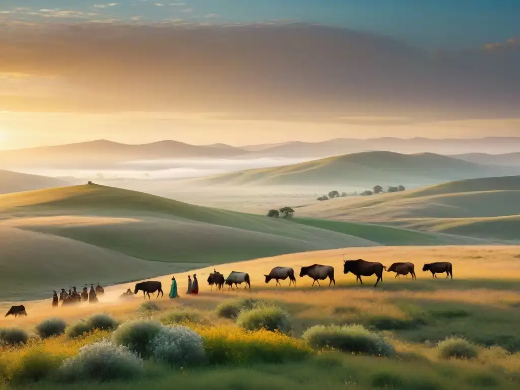
[[[20,358],[19,366],[12,373],[12,382],[22,384],[47,379],[58,371],[61,362],[60,356],[31,350]]]

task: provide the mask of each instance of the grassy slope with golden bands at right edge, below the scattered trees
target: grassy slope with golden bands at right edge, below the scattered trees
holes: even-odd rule
[[[519,241],[520,176],[460,180],[372,197],[339,198],[298,215],[427,232]]]

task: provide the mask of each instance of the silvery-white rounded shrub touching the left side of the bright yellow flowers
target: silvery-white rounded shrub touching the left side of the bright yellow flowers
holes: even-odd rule
[[[163,327],[151,341],[153,357],[173,367],[200,365],[205,360],[202,337],[186,327]]]

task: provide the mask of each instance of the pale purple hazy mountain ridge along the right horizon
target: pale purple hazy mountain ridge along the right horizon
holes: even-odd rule
[[[243,149],[267,156],[309,156],[331,157],[345,153],[356,153],[369,150],[387,150],[396,153],[511,153],[520,151],[520,137],[487,137],[472,139],[431,139],[415,137],[401,139],[393,137],[355,139],[336,138],[322,142],[285,142],[283,144],[266,144],[245,146]]]

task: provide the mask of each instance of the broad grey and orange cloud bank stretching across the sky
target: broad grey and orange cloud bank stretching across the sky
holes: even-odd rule
[[[520,107],[517,45],[432,54],[385,36],[310,24],[99,21],[4,24],[0,73],[55,77],[74,92],[47,101],[27,95],[9,103],[4,96],[4,107],[334,118],[467,118]]]

